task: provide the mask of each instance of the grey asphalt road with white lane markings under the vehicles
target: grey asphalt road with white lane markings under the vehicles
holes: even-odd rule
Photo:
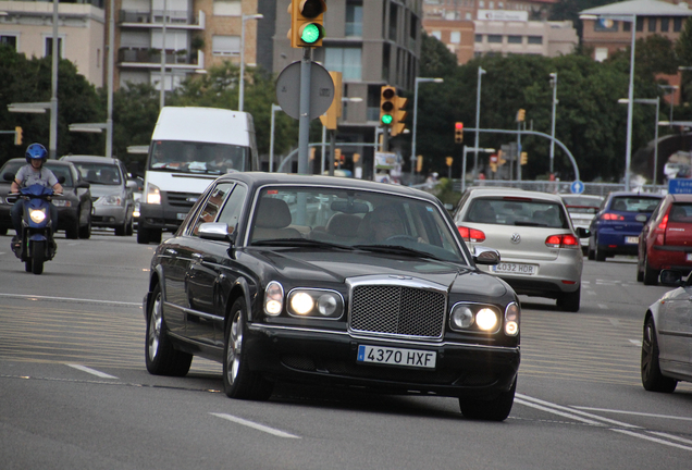
[[[282,386],[231,400],[221,367],[186,378],[144,364],[153,245],[96,232],[58,240],[42,275],[0,236],[2,469],[643,469],[689,468],[692,386],[645,392],[646,306],[631,258],[585,261],[582,308],[522,297],[518,394],[503,423],[458,401]]]

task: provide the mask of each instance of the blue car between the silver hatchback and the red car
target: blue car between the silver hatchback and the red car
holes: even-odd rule
[[[610,193],[589,227],[589,259],[605,261],[616,255],[637,256],[642,227],[662,198],[656,194]]]

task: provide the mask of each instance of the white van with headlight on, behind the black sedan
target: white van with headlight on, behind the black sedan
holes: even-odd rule
[[[164,107],[151,135],[137,243],[161,243],[219,175],[259,169],[255,124],[246,112]]]

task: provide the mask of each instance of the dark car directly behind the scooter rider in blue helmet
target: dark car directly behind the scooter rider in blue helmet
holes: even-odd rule
[[[16,172],[26,164],[25,159],[8,160],[0,169],[0,233],[7,234],[12,228],[10,210],[14,205],[8,202],[7,196]],[[89,238],[91,236],[91,193],[89,183],[79,177],[77,169],[69,162],[48,160],[46,168],[62,182],[63,197],[54,198],[58,208],[58,230],[65,231],[67,238]]]

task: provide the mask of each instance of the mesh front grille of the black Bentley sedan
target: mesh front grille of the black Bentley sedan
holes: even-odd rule
[[[445,295],[401,286],[356,286],[350,330],[358,333],[441,338]]]

